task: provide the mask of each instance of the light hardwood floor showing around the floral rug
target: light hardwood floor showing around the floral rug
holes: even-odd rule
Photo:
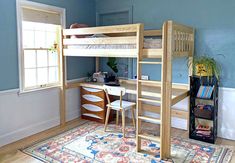
[[[79,126],[80,124],[84,122],[85,122],[84,120],[76,119],[76,120],[67,122],[65,126],[57,126],[49,130],[43,131],[41,133],[35,134],[33,136],[19,140],[15,143],[3,146],[0,148],[0,163],[41,163],[41,161],[20,152],[18,149],[27,147],[33,144],[34,142],[44,140],[48,137],[52,137],[54,135],[67,131],[71,128]],[[185,130],[172,128],[171,132],[172,132],[171,133],[172,136],[188,138],[188,132]],[[235,141],[232,141],[232,140],[218,138],[216,141],[216,144],[233,146],[235,149]],[[231,163],[232,162],[235,162],[235,153],[233,154]]]

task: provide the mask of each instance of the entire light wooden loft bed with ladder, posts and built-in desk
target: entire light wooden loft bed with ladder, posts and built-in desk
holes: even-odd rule
[[[137,96],[137,151],[141,151],[141,139],[159,141],[160,158],[169,158],[171,115],[181,115],[186,119],[189,117],[188,113],[171,110],[174,104],[189,95],[188,85],[172,84],[172,59],[188,57],[192,60],[193,52],[194,29],[173,21],[166,21],[161,30],[144,30],[143,24],[62,30],[62,56],[64,57],[61,57],[61,124],[65,123],[66,89],[87,85],[102,88],[102,84],[99,83],[67,84],[66,56],[96,57],[97,71],[99,70],[98,57],[137,58],[137,80],[121,81],[121,85],[129,88],[127,92]],[[143,64],[161,64],[161,81],[141,80]],[[189,74],[191,72],[190,66]],[[158,106],[152,103],[157,103]],[[146,117],[143,115],[144,111],[160,113],[160,119]],[[160,123],[160,136],[142,134],[141,121]]]

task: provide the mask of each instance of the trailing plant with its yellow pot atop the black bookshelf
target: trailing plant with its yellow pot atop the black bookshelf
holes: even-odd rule
[[[215,76],[220,78],[221,67],[214,58],[209,56],[198,56],[193,59],[193,75]]]

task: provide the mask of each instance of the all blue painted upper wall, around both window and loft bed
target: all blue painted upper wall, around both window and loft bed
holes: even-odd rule
[[[165,20],[191,25],[196,28],[197,55],[208,54],[222,65],[222,86],[235,87],[235,1],[227,0],[33,0],[66,8],[67,26],[73,22],[95,25],[97,12],[133,7],[134,23],[144,23],[146,29],[161,28]],[[0,1],[0,90],[19,87],[16,2]],[[68,58],[68,79],[86,76],[94,70],[93,58]],[[173,64],[173,80],[187,82],[185,59]],[[135,74],[135,68],[133,68]],[[145,67],[144,73],[159,79],[158,67]]]

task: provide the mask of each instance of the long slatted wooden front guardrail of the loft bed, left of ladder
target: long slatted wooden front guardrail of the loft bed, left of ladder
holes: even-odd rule
[[[105,27],[89,27],[64,29],[63,52],[64,56],[90,57],[130,57],[136,58],[137,48],[123,49],[92,49],[92,45],[136,45],[138,42],[138,27],[140,24],[116,25]],[[103,36],[103,37],[102,37]],[[106,36],[106,37],[105,37]],[[88,45],[86,48],[81,48]],[[77,46],[77,47],[76,47]],[[80,49],[78,48],[80,46]],[[115,46],[118,47],[118,46]]]

